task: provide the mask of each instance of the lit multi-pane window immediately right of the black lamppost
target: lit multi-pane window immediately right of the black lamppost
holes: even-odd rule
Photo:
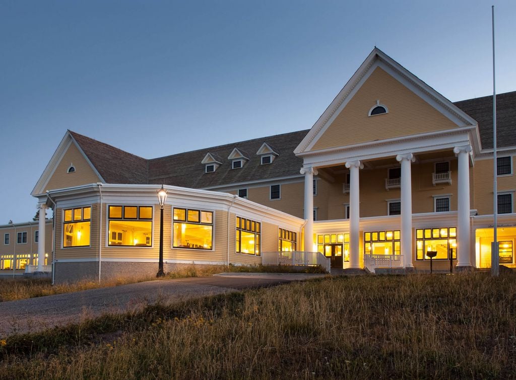
[[[174,248],[211,250],[213,246],[213,211],[174,208]]]

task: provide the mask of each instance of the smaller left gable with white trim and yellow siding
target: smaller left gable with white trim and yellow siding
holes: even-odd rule
[[[76,170],[74,173],[68,173],[68,169],[72,165]],[[51,190],[49,186],[52,189],[58,189],[99,181],[105,182],[80,145],[73,139],[70,131],[67,131],[46,165],[31,195],[38,196],[44,194],[46,190]]]

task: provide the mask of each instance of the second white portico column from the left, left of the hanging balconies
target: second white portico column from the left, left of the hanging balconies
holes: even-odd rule
[[[346,162],[349,169],[349,268],[360,268],[360,161]]]

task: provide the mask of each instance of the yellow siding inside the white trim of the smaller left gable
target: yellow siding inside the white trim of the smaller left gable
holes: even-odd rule
[[[75,172],[67,173],[72,163]],[[77,146],[72,142],[61,161],[57,164],[56,170],[45,186],[45,191],[92,184],[99,181],[99,176],[91,169],[88,161],[86,161]]]

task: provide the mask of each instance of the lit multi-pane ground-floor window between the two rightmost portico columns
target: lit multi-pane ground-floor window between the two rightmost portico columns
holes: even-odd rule
[[[428,251],[437,252],[434,260],[457,258],[457,228],[416,229],[416,260],[430,260]]]

